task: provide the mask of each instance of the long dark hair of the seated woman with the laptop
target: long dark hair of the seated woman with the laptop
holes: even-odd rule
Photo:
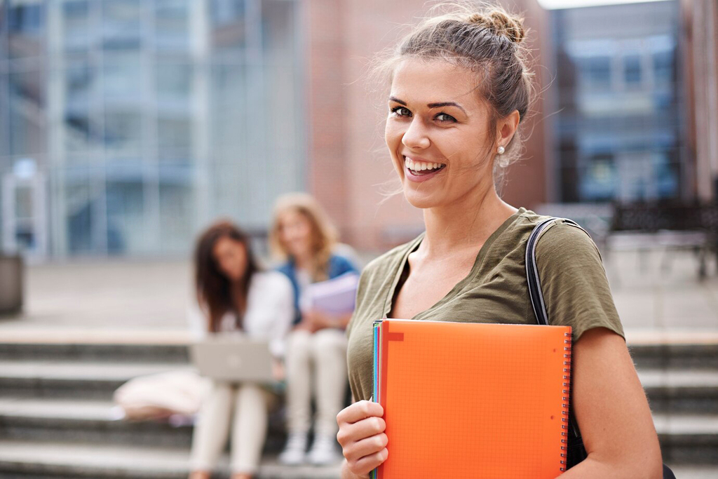
[[[249,284],[252,275],[260,271],[255,256],[252,254],[249,237],[237,225],[227,220],[219,221],[207,228],[197,238],[195,246],[195,289],[197,301],[206,307],[209,312],[208,330],[217,332],[220,320],[227,312],[235,312],[238,318],[238,327],[242,326],[243,312],[239,311],[238,304],[231,294],[231,282],[219,269],[213,255],[215,244],[220,238],[230,238],[239,241],[247,254],[247,267],[242,278],[243,302],[246,304]]]

